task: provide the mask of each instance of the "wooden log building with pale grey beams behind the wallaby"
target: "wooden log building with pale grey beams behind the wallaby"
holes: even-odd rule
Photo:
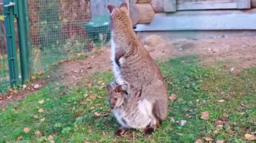
[[[92,13],[122,2],[129,3],[137,32],[256,30],[256,0],[94,0]]]

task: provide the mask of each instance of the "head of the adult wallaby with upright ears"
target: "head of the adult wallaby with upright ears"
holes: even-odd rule
[[[111,15],[112,29],[133,30],[127,3],[122,3],[119,8],[113,5],[108,5],[107,8]]]

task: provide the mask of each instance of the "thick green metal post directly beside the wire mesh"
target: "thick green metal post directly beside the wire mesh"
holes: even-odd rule
[[[17,1],[18,6],[18,34],[20,44],[20,67],[22,73],[22,83],[26,83],[30,79],[30,62],[28,53],[28,34],[26,27],[26,3],[27,1]]]

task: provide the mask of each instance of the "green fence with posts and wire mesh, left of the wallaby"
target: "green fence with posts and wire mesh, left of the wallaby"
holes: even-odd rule
[[[28,81],[31,73],[42,71],[49,64],[84,56],[92,48],[104,46],[110,39],[110,17],[108,13],[92,11],[91,2],[94,1],[0,0],[0,93],[20,85],[20,81]]]

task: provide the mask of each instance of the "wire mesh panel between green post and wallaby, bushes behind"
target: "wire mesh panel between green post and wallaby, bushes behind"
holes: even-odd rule
[[[91,18],[90,0],[29,0],[32,69],[73,58],[109,38],[106,15]]]

